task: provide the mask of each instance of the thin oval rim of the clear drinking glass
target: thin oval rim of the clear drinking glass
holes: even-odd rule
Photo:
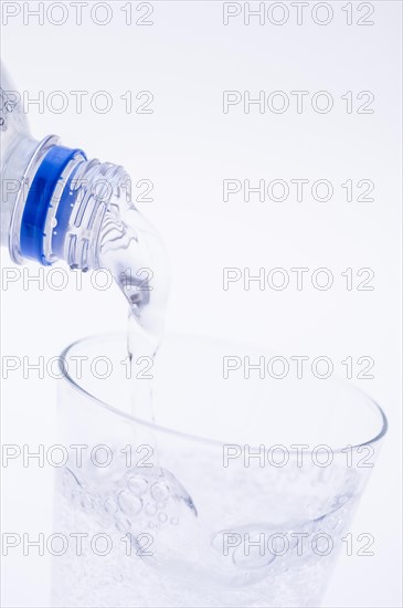
[[[70,353],[70,350],[72,348],[74,348],[75,346],[77,346],[79,344],[83,344],[83,343],[94,342],[94,340],[97,340],[97,339],[100,339],[100,338],[107,338],[107,337],[112,338],[112,337],[116,337],[116,336],[119,336],[119,335],[125,335],[125,333],[124,332],[108,332],[108,333],[105,333],[105,334],[93,334],[93,335],[85,336],[83,338],[78,338],[78,339],[74,340],[73,343],[71,343],[70,345],[67,345],[62,350],[61,355],[59,356],[59,360],[57,360],[59,368],[62,373],[62,378],[61,379],[63,381],[65,381],[68,386],[71,386],[74,390],[76,390],[77,392],[83,395],[86,399],[89,399],[91,401],[95,402],[97,406],[100,406],[102,408],[108,410],[109,412],[114,413],[115,416],[118,416],[119,418],[121,418],[126,421],[135,422],[136,424],[140,424],[142,427],[146,427],[147,429],[150,429],[150,430],[153,430],[153,431],[157,431],[157,432],[161,432],[161,433],[170,434],[170,436],[176,436],[176,437],[179,437],[182,440],[187,440],[187,441],[195,441],[198,443],[210,444],[210,445],[220,447],[220,448],[227,444],[229,442],[225,442],[225,441],[221,441],[221,440],[218,440],[218,439],[210,439],[208,437],[201,437],[201,436],[197,436],[197,434],[192,434],[192,433],[188,433],[188,432],[182,432],[182,431],[176,430],[173,428],[165,427],[165,426],[153,423],[153,422],[148,422],[147,420],[144,420],[141,418],[137,418],[136,416],[132,416],[131,413],[127,413],[127,412],[116,408],[115,406],[112,406],[107,401],[104,401],[103,399],[99,399],[98,397],[95,397],[94,395],[88,392],[88,390],[86,390],[83,386],[81,386],[71,376],[71,374],[68,373],[68,369],[65,365],[65,359],[67,358],[67,354]],[[199,338],[199,339],[206,339],[206,340],[213,342],[213,343],[214,342],[231,342],[231,338],[226,339],[224,337],[213,337],[213,336],[204,337],[202,335],[192,334],[190,332],[189,333],[169,332],[167,334],[167,336],[168,337],[176,337],[176,338],[184,338],[184,337],[185,338],[194,338],[194,339]],[[244,342],[241,343],[241,344],[245,345]],[[386,415],[384,413],[383,409],[381,408],[381,406],[372,397],[370,397],[364,390],[357,387],[354,384],[349,382],[348,380],[344,380],[342,378],[341,379],[338,378],[338,380],[341,381],[346,387],[350,387],[350,389],[356,390],[361,397],[365,398],[369,401],[369,405],[378,412],[378,415],[380,417],[380,430],[372,439],[368,439],[367,441],[362,441],[360,443],[347,444],[343,448],[331,449],[331,452],[337,454],[337,453],[344,452],[347,448],[349,448],[351,450],[358,450],[359,448],[363,448],[365,445],[370,445],[370,444],[373,444],[373,443],[379,443],[381,441],[381,439],[383,439],[383,437],[386,434],[386,431],[388,431],[388,428],[389,428],[388,418],[386,418]],[[233,444],[235,444],[235,443],[233,442]],[[267,451],[267,450],[265,450],[265,451]],[[298,450],[296,450],[296,449],[288,449],[287,448],[287,452],[289,454],[296,454],[296,455],[298,454]],[[306,450],[306,452],[307,453],[312,453],[314,449]]]

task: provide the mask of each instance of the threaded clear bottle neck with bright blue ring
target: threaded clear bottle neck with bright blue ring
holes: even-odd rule
[[[127,189],[127,174],[59,145],[45,146],[38,156],[15,208],[11,255],[19,263],[51,265],[64,260],[83,271],[99,268],[104,216]]]

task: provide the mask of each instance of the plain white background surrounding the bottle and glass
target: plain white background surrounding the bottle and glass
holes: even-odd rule
[[[4,3],[7,4],[7,3]],[[335,360],[361,355],[375,360],[374,379],[357,384],[384,408],[390,430],[357,513],[352,532],[375,537],[373,557],[341,556],[329,586],[328,607],[401,606],[401,399],[400,399],[400,223],[401,223],[401,3],[372,2],[373,25],[347,25],[346,2],[330,2],[333,19],[316,24],[310,2],[301,25],[296,13],[284,25],[250,25],[243,15],[223,25],[221,2],[152,2],[152,25],[126,25],[120,2],[109,3],[110,23],[83,24],[65,2],[63,25],[23,23],[21,13],[2,25],[2,54],[21,92],[44,99],[67,95],[63,113],[30,105],[32,133],[54,133],[88,157],[121,164],[134,182],[153,182],[152,202],[139,208],[167,244],[172,291],[168,329],[236,337],[308,356]],[[49,3],[45,3],[46,6]],[[255,3],[256,4],[256,3]],[[287,3],[289,6],[289,3]],[[89,2],[92,6],[92,2]],[[240,4],[243,8],[243,3]],[[138,19],[145,11],[136,12]],[[56,9],[54,20],[60,19]],[[98,19],[105,13],[99,10]],[[223,91],[284,91],[284,114],[245,114],[242,104],[223,113]],[[304,112],[295,111],[290,91],[309,91]],[[329,91],[328,114],[311,109],[311,93]],[[71,91],[88,91],[76,112]],[[113,108],[100,114],[88,99],[107,91]],[[153,94],[152,114],[126,113],[120,95]],[[371,91],[373,114],[348,114],[341,99]],[[56,105],[56,99],[54,99]],[[102,99],[99,98],[99,103]],[[137,101],[136,104],[139,102]],[[357,108],[357,102],[354,104]],[[241,195],[223,201],[223,179],[311,181],[335,186],[328,202],[307,196],[284,202]],[[374,202],[347,202],[340,185],[371,179]],[[8,268],[7,252],[2,265]],[[257,271],[283,266],[327,266],[337,280],[329,291],[309,286],[284,291],[238,283],[222,289],[224,266]],[[347,291],[340,273],[371,268],[373,291]],[[38,269],[31,266],[34,274]],[[309,276],[309,275],[308,275]],[[71,342],[100,331],[125,328],[126,305],[116,290],[74,281],[62,292],[40,291],[22,281],[2,285],[2,354],[51,357]],[[342,367],[340,368],[342,370]],[[54,439],[57,380],[22,378],[3,382],[2,440],[51,444]],[[54,442],[54,441],[53,441]],[[52,530],[52,471],[15,462],[2,471],[2,530]],[[3,605],[46,606],[50,564],[15,552],[3,559]]]

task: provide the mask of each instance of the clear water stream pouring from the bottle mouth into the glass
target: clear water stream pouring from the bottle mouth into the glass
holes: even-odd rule
[[[123,176],[123,186],[127,182]],[[168,300],[167,253],[155,228],[127,192],[112,202],[99,235],[99,264],[106,268],[128,302],[128,356],[131,361],[132,415],[153,421],[152,369],[160,345]],[[138,364],[150,374],[138,377]]]

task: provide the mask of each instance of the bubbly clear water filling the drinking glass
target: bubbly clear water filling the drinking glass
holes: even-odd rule
[[[242,483],[234,479],[230,496],[212,468],[215,491],[204,488],[197,506],[171,471],[128,469],[114,455],[103,473],[88,461],[59,478],[57,532],[88,536],[83,555],[71,539],[66,555],[55,558],[57,606],[66,598],[68,606],[318,606],[353,510],[353,475],[342,494],[324,500],[318,493],[309,506],[285,501],[273,480],[266,520],[254,521],[251,509],[250,521],[236,524],[238,501],[253,505],[267,491],[257,470]],[[203,458],[190,465],[195,479],[205,476]],[[214,530],[222,513],[234,524]],[[91,546],[100,532],[108,536],[105,556]],[[72,580],[78,583],[72,587]]]

